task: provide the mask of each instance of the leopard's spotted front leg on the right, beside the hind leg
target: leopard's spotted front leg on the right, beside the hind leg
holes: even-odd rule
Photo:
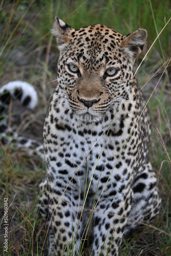
[[[110,194],[114,194],[114,190],[109,193],[106,189],[102,193],[94,211],[94,255],[118,255],[124,227],[131,210],[132,189],[118,197]]]

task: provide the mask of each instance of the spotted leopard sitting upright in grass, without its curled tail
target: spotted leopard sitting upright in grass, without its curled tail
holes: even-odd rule
[[[147,31],[74,29],[56,17],[52,34],[58,84],[44,124],[39,203],[50,214],[49,255],[118,255],[123,237],[153,223],[161,205],[151,118],[133,69]]]

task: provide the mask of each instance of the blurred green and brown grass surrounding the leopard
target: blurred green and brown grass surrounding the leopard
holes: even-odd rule
[[[13,80],[27,81],[34,85],[39,98],[32,112],[23,112],[20,105],[12,104],[9,120],[15,122],[19,135],[39,141],[49,97],[56,87],[58,51],[50,33],[55,16],[74,28],[101,23],[122,34],[138,28],[148,32],[143,54],[152,48],[142,63],[143,54],[138,58],[135,70],[141,63],[137,77],[145,97],[150,97],[150,158],[158,177],[162,207],[152,225],[144,226],[123,241],[121,255],[171,255],[170,22],[164,28],[170,19],[170,8],[169,0],[2,0],[0,3],[0,87]],[[38,156],[15,150],[13,145],[1,146],[0,173],[0,254],[47,255],[44,223],[36,216],[38,184],[46,174],[45,164]],[[3,249],[4,198],[9,203],[8,253]]]

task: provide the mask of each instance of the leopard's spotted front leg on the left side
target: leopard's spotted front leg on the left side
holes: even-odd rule
[[[83,219],[80,219],[82,200],[74,200],[74,191],[66,191],[61,197],[53,192],[49,193],[51,225],[54,234],[50,255],[75,255],[79,250],[84,226]],[[71,198],[72,197],[72,198]]]

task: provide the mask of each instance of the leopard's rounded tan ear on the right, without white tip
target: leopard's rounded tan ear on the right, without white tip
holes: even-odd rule
[[[146,38],[147,31],[145,29],[138,29],[129,35],[125,35],[121,45],[127,54],[136,59],[143,50]]]

